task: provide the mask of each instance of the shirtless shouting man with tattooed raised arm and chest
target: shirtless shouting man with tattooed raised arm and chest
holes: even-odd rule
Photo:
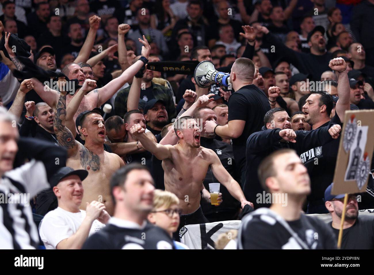
[[[74,140],[74,135],[65,126],[66,92],[60,89],[60,97],[56,106],[53,128],[61,146],[68,149],[66,166],[85,169],[88,176],[83,180],[81,209],[85,210],[86,202],[99,201],[105,205],[109,215],[113,215],[113,201],[110,194],[110,178],[125,163],[116,154],[104,151],[105,126],[101,114],[96,111],[85,113],[80,119],[81,132],[85,136],[85,145]]]

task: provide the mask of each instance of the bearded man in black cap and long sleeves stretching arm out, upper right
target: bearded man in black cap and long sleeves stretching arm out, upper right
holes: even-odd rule
[[[264,37],[268,39],[272,45],[277,49],[275,54],[280,57],[284,56],[288,62],[292,63],[300,73],[310,74],[312,80],[320,79],[321,74],[330,70],[328,67],[329,61],[332,59],[332,54],[326,51],[326,39],[324,37],[325,29],[321,26],[315,27],[308,34],[308,45],[310,46],[310,53],[296,52],[287,48],[281,40],[269,32],[266,27],[257,26],[257,28],[264,33]]]

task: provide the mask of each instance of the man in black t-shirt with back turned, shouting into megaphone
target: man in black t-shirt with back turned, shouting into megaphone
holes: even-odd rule
[[[229,122],[217,125],[214,121],[205,123],[205,131],[225,139],[232,139],[237,169],[240,171],[242,185],[245,177],[245,147],[249,137],[261,130],[263,119],[270,110],[265,93],[252,84],[255,65],[251,59],[237,58],[231,68],[230,84],[235,91],[229,100]]]

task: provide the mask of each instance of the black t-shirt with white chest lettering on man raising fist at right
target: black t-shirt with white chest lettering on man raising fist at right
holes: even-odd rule
[[[328,126],[330,123],[342,125],[339,116],[335,114],[330,121],[320,127]],[[324,146],[310,148],[300,155],[301,161],[308,169],[310,176],[312,192],[308,196],[308,201],[322,200],[326,188],[332,183],[332,180],[334,179],[339,142],[340,136]]]

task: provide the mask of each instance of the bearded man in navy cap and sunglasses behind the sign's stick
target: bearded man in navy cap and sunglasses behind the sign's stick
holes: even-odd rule
[[[334,183],[331,183],[325,191],[325,206],[331,214],[330,226],[337,241],[343,214],[344,194],[332,195],[333,185]],[[357,194],[348,196],[341,249],[374,249],[374,219],[369,215],[358,215]]]

